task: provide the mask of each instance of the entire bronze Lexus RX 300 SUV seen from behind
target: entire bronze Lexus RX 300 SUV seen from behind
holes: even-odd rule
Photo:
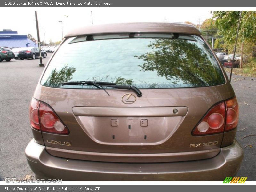
[[[223,180],[243,159],[238,103],[192,25],[71,31],[30,105],[25,153],[38,178]]]

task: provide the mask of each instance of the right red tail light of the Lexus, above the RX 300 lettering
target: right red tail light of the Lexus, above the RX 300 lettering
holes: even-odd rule
[[[235,129],[238,124],[238,104],[232,98],[213,106],[192,131],[193,135],[209,135]]]

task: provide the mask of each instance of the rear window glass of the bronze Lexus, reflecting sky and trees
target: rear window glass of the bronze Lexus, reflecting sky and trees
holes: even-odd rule
[[[141,89],[205,87],[225,83],[201,37],[183,34],[108,34],[67,39],[49,63],[41,84],[105,81]],[[109,87],[107,87],[109,88]]]

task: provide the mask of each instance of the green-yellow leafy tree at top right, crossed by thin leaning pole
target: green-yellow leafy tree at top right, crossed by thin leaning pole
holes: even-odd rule
[[[234,45],[236,40],[236,31],[238,26],[240,11],[213,11],[213,17],[216,18],[216,26],[218,27],[218,34],[223,35],[224,44],[227,47]],[[238,44],[241,44],[241,63],[244,44],[253,42],[254,48],[252,48],[251,55],[255,50],[256,45],[256,11],[242,11],[239,39]]]

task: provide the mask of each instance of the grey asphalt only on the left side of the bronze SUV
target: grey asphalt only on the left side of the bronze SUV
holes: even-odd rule
[[[43,58],[46,64],[52,54]],[[44,67],[39,59],[0,62],[0,180],[34,175],[25,157],[33,138],[28,109]]]

